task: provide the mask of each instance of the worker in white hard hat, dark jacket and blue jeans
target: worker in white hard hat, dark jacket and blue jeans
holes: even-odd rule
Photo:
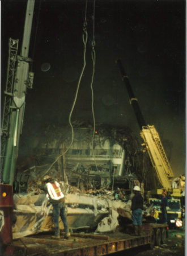
[[[143,197],[141,195],[141,189],[139,186],[135,186],[134,196],[132,198],[131,210],[132,221],[134,225],[135,236],[141,236],[142,233],[142,211],[143,211]]]

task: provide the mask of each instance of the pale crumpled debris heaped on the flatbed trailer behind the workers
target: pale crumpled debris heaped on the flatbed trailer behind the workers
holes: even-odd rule
[[[137,184],[138,180],[134,180]],[[112,232],[120,224],[131,223],[130,189],[88,189],[84,192],[60,181],[65,194],[67,207],[67,221],[70,229],[90,229],[96,232]],[[29,191],[37,187],[36,183],[29,187]],[[142,184],[140,184],[142,187]],[[53,229],[52,205],[48,204],[46,195],[39,188],[30,193],[14,195],[16,222],[13,226],[13,237],[19,238],[29,234]],[[151,208],[147,208],[146,216]],[[63,224],[60,222],[60,228]]]

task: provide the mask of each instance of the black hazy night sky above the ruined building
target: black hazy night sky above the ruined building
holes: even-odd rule
[[[27,1],[1,1],[1,98],[6,81],[8,39],[23,36]],[[32,154],[37,133],[49,124],[68,125],[83,67],[82,0],[36,1],[29,57],[35,73],[27,90],[19,157]],[[86,68],[72,121],[92,123],[93,5],[87,3]],[[138,122],[115,60],[121,59],[148,125],[154,125],[175,175],[185,172],[185,1],[95,0],[94,108],[96,123]],[[48,65],[50,69],[46,71]],[[1,104],[2,106],[2,104]]]

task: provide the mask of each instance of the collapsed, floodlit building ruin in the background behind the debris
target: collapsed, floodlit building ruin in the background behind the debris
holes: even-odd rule
[[[148,184],[145,179],[150,168],[148,156],[128,127],[98,126],[94,140],[91,127],[75,127],[72,144],[67,127],[54,133],[58,139],[49,136],[53,132],[48,129],[37,144],[39,152],[19,163],[17,192],[31,191],[33,181],[45,174],[67,181],[82,191],[101,188],[131,191],[134,180]]]

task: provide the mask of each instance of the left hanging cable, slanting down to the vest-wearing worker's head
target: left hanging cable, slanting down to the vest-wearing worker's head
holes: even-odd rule
[[[73,141],[74,141],[74,129],[73,129],[73,125],[72,125],[72,123],[71,123],[71,115],[72,115],[72,113],[73,113],[74,106],[75,106],[75,103],[76,103],[76,98],[77,98],[77,96],[78,96],[80,81],[81,81],[81,79],[82,79],[83,72],[84,72],[84,69],[85,69],[85,67],[86,67],[86,46],[87,46],[87,40],[88,40],[87,19],[86,19],[86,16],[87,16],[87,1],[88,1],[88,0],[86,0],[85,15],[84,15],[84,23],[83,23],[83,35],[82,35],[83,44],[84,44],[84,53],[83,53],[83,60],[84,60],[84,63],[83,63],[82,72],[80,73],[78,85],[77,85],[77,87],[76,87],[76,93],[75,93],[74,102],[73,102],[73,105],[72,105],[72,107],[71,107],[71,111],[70,111],[70,114],[69,114],[69,124],[70,124],[70,127],[71,127],[71,143],[69,144],[69,147],[63,152],[63,154],[59,155],[59,156],[56,158],[56,160],[54,160],[54,162],[49,166],[48,170],[46,170],[46,172],[45,172],[42,176],[46,175],[46,174],[50,171],[50,168],[52,168],[52,166],[58,161],[58,159],[61,158],[63,155],[66,154],[66,152],[70,149],[70,147],[71,147],[71,145],[73,144]]]

